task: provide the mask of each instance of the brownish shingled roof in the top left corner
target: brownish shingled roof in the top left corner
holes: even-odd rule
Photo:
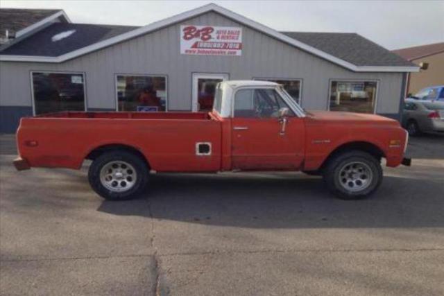
[[[6,30],[18,32],[60,11],[62,10],[0,8],[0,38],[6,37]]]

